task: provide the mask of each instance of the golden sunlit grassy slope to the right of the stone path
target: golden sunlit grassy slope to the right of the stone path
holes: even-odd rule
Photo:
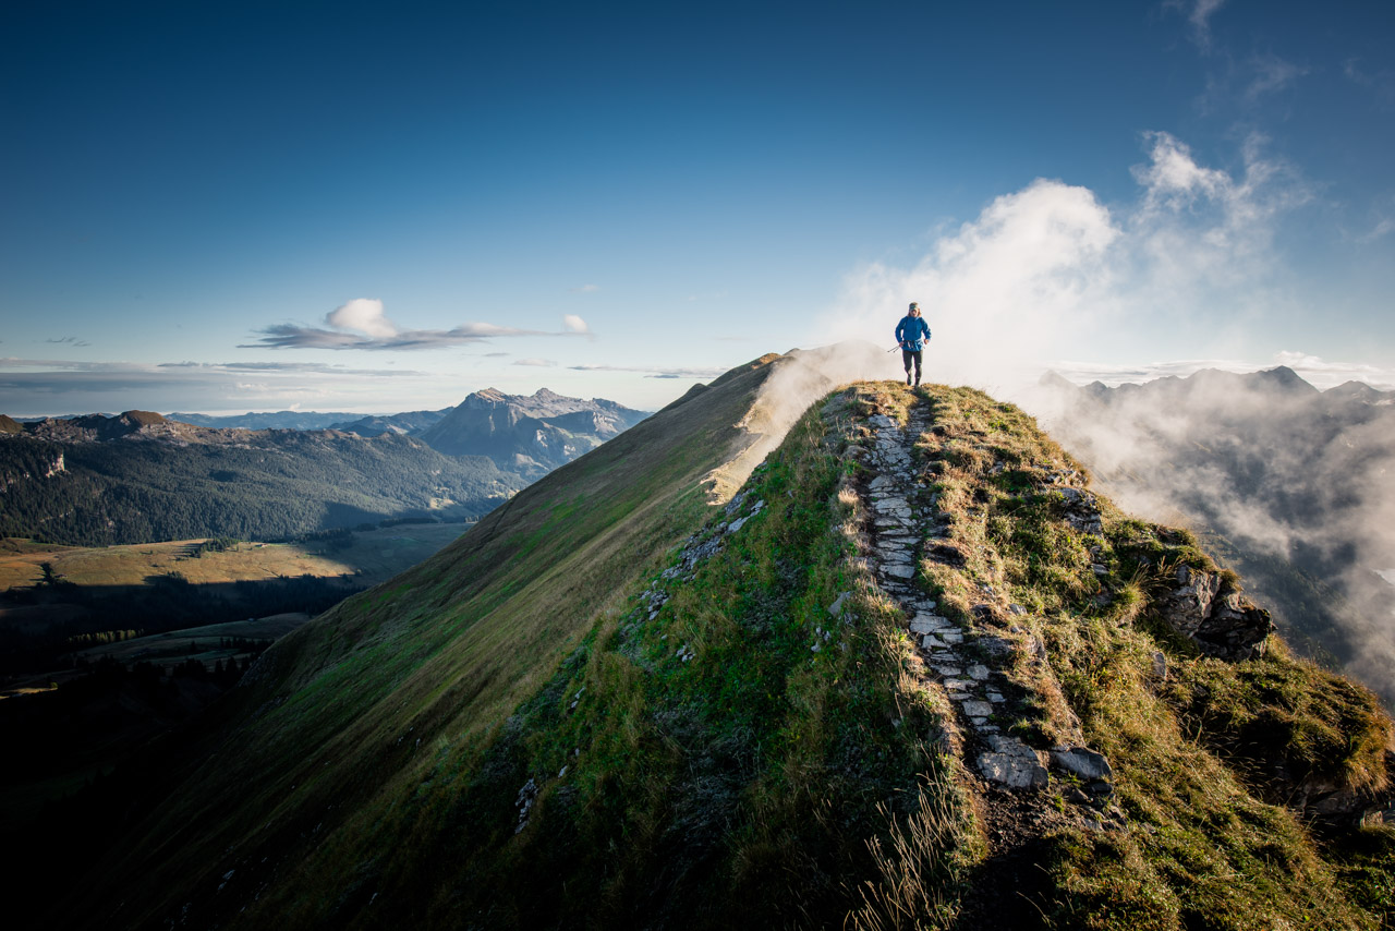
[[[1046,839],[1046,923],[1388,927],[1395,833],[1310,833],[1262,777],[1278,757],[1299,775],[1388,786],[1381,755],[1391,723],[1375,697],[1292,659],[1278,642],[1246,663],[1198,657],[1149,607],[1169,567],[1214,568],[1190,535],[1129,519],[1108,502],[1102,536],[1071,532],[1059,521],[1060,496],[1032,473],[1078,466],[1028,417],[970,389],[936,391],[932,403],[942,435],[926,454],[939,502],[978,544],[964,574],[928,567],[928,583],[949,611],[971,610],[976,583],[1004,588],[1031,609],[1062,702],[1043,703],[1041,733],[1078,717],[1112,761],[1130,819],[1123,832]],[[1166,680],[1151,664],[1159,648]]]

